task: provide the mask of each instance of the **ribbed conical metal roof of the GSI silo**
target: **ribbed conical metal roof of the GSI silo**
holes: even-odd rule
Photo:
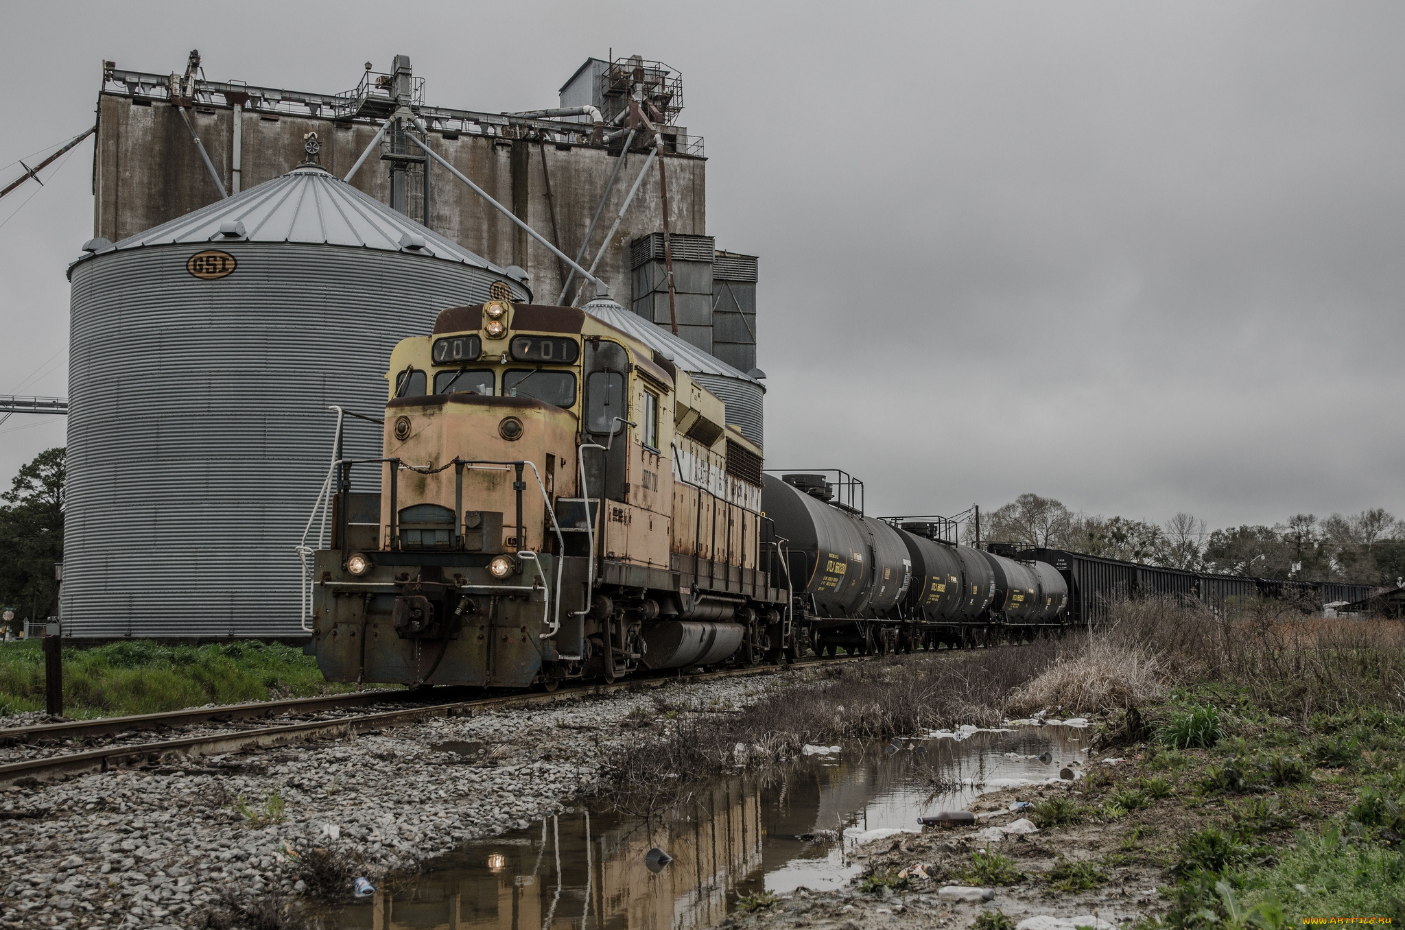
[[[291,242],[378,251],[410,251],[497,274],[504,268],[391,209],[316,164],[264,181],[117,244],[89,243],[94,254],[148,246],[221,242]],[[83,256],[79,261],[90,258]],[[74,261],[73,264],[77,264]],[[72,273],[73,266],[69,266]]]

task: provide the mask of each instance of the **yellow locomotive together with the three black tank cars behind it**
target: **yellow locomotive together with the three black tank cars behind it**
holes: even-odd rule
[[[402,340],[382,457],[333,462],[305,589],[329,681],[554,690],[1064,621],[1047,563],[865,516],[842,472],[764,471],[676,336],[510,296]]]

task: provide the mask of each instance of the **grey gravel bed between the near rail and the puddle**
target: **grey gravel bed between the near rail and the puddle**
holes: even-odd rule
[[[295,857],[312,847],[358,858],[378,881],[464,840],[559,813],[599,784],[603,753],[631,735],[635,708],[653,715],[659,695],[717,712],[798,679],[684,680],[6,788],[0,926],[200,927],[229,893],[299,893]]]

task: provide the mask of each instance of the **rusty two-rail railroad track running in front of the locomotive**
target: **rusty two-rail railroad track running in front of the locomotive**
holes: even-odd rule
[[[735,679],[756,674],[774,674],[788,669],[802,669],[819,664],[846,664],[863,662],[864,657],[843,659],[809,659],[787,666],[753,666],[747,669],[725,669],[721,672],[702,672],[688,676],[659,676],[643,679],[628,679],[613,684],[582,684],[563,687],[551,693],[509,694],[502,697],[472,698],[461,701],[445,701],[434,704],[417,704],[393,711],[378,711],[374,714],[357,714],[322,721],[305,721],[296,723],[281,723],[275,726],[261,726],[254,729],[236,729],[221,733],[202,733],[197,736],[176,736],[150,743],[125,743],[103,746],[73,753],[62,753],[41,759],[25,759],[0,766],[0,785],[15,784],[28,787],[56,777],[83,775],[125,766],[140,766],[149,763],[166,763],[171,768],[188,770],[190,764],[181,764],[180,757],[221,756],[244,749],[264,749],[271,746],[288,746],[309,739],[346,739],[347,736],[365,735],[406,726],[436,716],[473,716],[489,711],[499,711],[516,707],[535,707],[555,704],[556,701],[576,701],[583,697],[614,694],[639,687],[662,687],[669,681],[686,679],[688,681],[705,681],[710,679]],[[298,714],[309,709],[334,709],[340,707],[354,707],[357,704],[379,704],[386,701],[410,701],[409,691],[361,691],[355,694],[327,695],[323,698],[299,698],[291,701],[266,701],[263,704],[236,704],[229,707],[201,708],[195,711],[173,711],[169,714],[143,714],[140,716],[118,716],[98,721],[74,721],[70,723],[42,723],[38,726],[22,726],[0,731],[0,739],[18,740],[27,743],[45,743],[52,739],[80,739],[84,736],[101,736],[110,733],[126,733],[133,729],[164,729],[176,726],[191,726],[195,723],[222,723],[233,719],[247,719],[254,716],[271,716],[275,714]],[[3,743],[0,743],[3,745]],[[10,743],[14,745],[14,743]],[[176,759],[173,759],[176,757]]]

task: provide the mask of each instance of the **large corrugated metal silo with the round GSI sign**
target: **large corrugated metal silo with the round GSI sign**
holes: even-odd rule
[[[493,282],[528,296],[312,164],[89,249],[69,270],[74,636],[298,635],[327,406],[379,416],[400,339]],[[378,457],[379,427],[348,419],[346,454]]]

